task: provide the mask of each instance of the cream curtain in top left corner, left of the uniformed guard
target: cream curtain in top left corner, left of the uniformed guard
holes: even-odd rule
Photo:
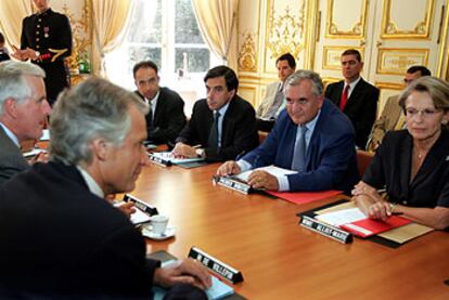
[[[21,48],[22,19],[31,13],[31,1],[29,0],[0,1],[0,32],[3,34],[10,47]]]

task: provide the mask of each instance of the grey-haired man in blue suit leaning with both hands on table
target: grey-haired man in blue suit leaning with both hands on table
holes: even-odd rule
[[[323,95],[318,74],[298,70],[285,82],[283,110],[265,142],[239,161],[227,161],[218,175],[238,174],[274,165],[297,173],[273,175],[256,170],[248,177],[255,188],[272,191],[341,190],[358,181],[355,133],[349,119]]]

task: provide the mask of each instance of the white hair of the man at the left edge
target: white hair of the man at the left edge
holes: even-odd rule
[[[17,103],[31,96],[33,89],[25,76],[44,78],[43,69],[31,63],[4,61],[0,63],[0,116],[3,115],[3,104],[7,99]]]

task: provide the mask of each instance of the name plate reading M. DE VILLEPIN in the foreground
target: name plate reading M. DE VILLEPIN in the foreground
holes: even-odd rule
[[[189,258],[197,260],[198,262],[204,264],[207,269],[214,271],[214,273],[220,275],[221,277],[231,282],[232,284],[243,282],[242,272],[233,269],[232,266],[229,266],[224,262],[219,261],[218,259],[200,250],[196,247],[192,247],[190,249]]]

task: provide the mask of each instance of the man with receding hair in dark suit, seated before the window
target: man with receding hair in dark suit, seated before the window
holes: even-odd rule
[[[179,94],[159,87],[157,66],[151,61],[140,62],[133,67],[136,93],[151,108],[146,115],[149,141],[155,144],[175,145],[175,140],[185,125],[184,102]]]

